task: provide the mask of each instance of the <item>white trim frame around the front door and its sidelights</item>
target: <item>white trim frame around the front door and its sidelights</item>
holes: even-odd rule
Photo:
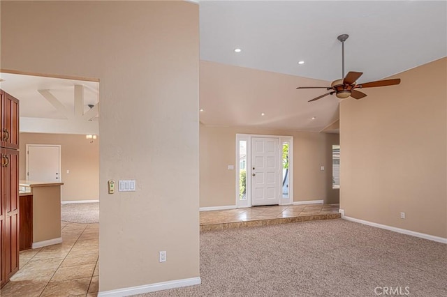
[[[279,205],[292,205],[293,204],[293,136],[291,135],[262,135],[262,134],[243,134],[243,133],[236,133],[236,142],[235,142],[235,205],[236,208],[244,208],[244,207],[251,207],[251,178],[247,178],[246,181],[246,191],[247,191],[247,200],[240,200],[239,199],[239,176],[240,176],[240,169],[239,169],[239,161],[240,161],[240,155],[239,155],[239,142],[247,141],[247,162],[246,162],[246,170],[247,170],[247,176],[251,176],[251,138],[252,137],[265,137],[265,138],[277,138],[279,139],[279,146],[280,146],[280,153],[281,158],[279,158],[281,164],[282,164],[282,143],[288,142],[289,143],[289,160],[288,160],[288,168],[289,168],[289,188],[288,188],[288,199],[282,198],[282,187],[281,187],[281,199],[279,199]],[[281,167],[282,168],[282,167]]]

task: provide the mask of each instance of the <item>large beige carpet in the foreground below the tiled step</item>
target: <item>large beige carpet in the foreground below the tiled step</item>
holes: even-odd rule
[[[341,219],[207,231],[200,277],[141,296],[441,297],[447,245]]]

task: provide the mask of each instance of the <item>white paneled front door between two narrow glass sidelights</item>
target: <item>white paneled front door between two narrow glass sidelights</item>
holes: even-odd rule
[[[251,138],[251,205],[279,204],[279,156],[278,138]]]

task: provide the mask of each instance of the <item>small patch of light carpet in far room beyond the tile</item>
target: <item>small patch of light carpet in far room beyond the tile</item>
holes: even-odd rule
[[[61,220],[80,224],[99,222],[99,203],[61,204]]]

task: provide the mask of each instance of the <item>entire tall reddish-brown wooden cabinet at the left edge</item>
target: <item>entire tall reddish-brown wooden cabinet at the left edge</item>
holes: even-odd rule
[[[19,105],[1,94],[0,142],[0,287],[19,270]]]

